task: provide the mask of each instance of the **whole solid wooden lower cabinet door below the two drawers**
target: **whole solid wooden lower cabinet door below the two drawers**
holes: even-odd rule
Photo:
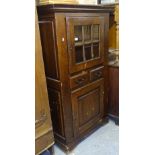
[[[72,92],[75,137],[82,136],[103,116],[103,80]]]

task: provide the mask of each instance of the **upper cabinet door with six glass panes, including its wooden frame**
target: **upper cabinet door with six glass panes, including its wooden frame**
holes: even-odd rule
[[[66,17],[69,69],[78,72],[104,61],[104,17]]]

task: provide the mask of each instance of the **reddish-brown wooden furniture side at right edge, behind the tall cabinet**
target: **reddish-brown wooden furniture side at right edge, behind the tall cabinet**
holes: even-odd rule
[[[119,67],[109,66],[108,115],[119,122]]]

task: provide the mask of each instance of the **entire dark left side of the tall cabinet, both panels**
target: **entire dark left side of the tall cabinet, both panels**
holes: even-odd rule
[[[40,36],[42,43],[43,59],[48,87],[48,97],[53,118],[53,130],[56,139],[65,142],[62,86],[59,74],[59,59],[54,13],[50,16],[39,16]]]

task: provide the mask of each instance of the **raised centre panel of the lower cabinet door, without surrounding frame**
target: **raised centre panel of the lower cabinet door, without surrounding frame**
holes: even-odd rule
[[[99,89],[78,97],[79,128],[100,112]]]

